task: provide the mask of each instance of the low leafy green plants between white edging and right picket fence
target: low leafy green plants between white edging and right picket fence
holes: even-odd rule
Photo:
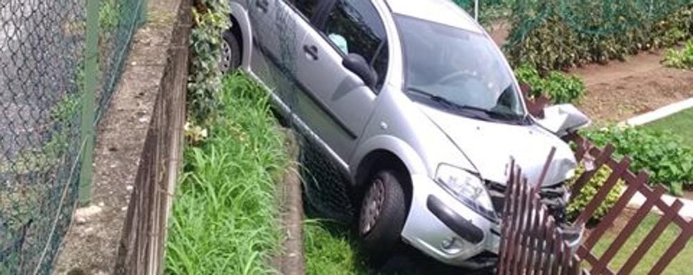
[[[669,132],[635,127],[607,127],[585,132],[595,145],[612,143],[616,157],[631,157],[635,171],[644,170],[651,184],[663,184],[673,195],[681,195],[684,185],[693,183],[693,148]]]

